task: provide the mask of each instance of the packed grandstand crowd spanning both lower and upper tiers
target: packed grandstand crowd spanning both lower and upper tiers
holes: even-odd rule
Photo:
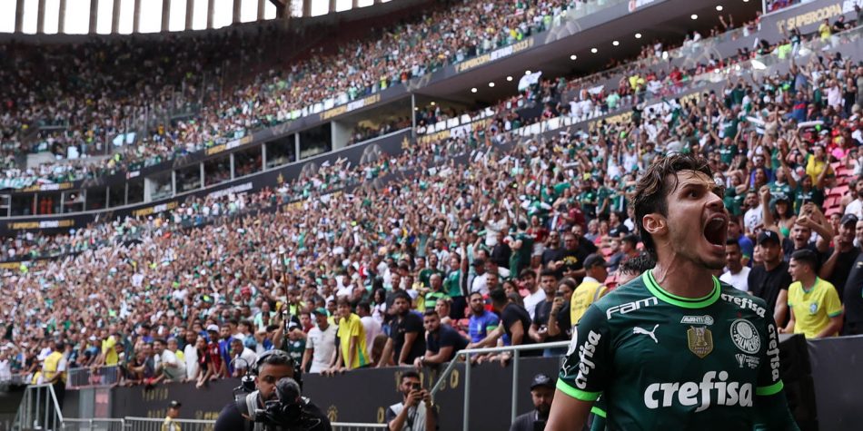
[[[604,3],[430,2],[336,45],[304,34],[308,43],[282,57],[267,55],[265,41],[282,31],[268,24],[38,50],[26,38],[4,42],[2,184],[37,193],[101,179],[102,211],[113,199],[104,198],[105,178],[413,85]],[[767,12],[795,3],[767,2]],[[809,31],[783,28],[778,38],[722,48],[762,32],[757,9],[703,16],[709,24],[678,37],[639,35],[631,41],[640,44],[636,54],[586,71],[539,75],[531,72],[544,64],[531,64],[518,91],[493,103],[439,99],[382,114],[352,124],[339,148],[321,152],[374,148],[381,137],[409,131],[396,151],[364,151],[356,162],[334,156],[250,191],[184,194],[174,186],[174,205],[119,218],[104,211],[73,229],[5,230],[0,380],[45,381],[44,360],[58,346],[69,387],[204,387],[241,375],[233,358],[272,348],[285,348],[312,373],[422,367],[422,321],[415,329],[422,343],[410,352],[398,350],[403,339],[387,342],[399,343],[394,328],[402,325],[393,303],[406,296],[410,309],[434,309],[457,331],[458,345],[482,346],[487,328],[474,328],[482,312],[468,299],[497,287],[530,315],[516,344],[568,340],[563,321],[577,319],[550,318],[551,311],[570,310],[569,295],[590,280],[614,289],[618,269],[640,259],[631,193],[640,172],[674,152],[705,157],[725,189],[729,238],[739,244],[729,249],[739,252],[729,252],[720,279],[779,307],[762,273],[787,268],[782,261],[796,250],[813,250],[819,278],[844,305],[843,326],[828,335],[859,334],[863,15],[856,7]],[[291,152],[285,164],[303,163]],[[207,178],[194,177],[194,188],[270,168],[261,157],[246,162],[208,165],[205,174],[201,162]],[[159,202],[129,196],[117,206]],[[10,224],[95,208],[58,211],[39,198],[9,199]],[[778,257],[764,251],[768,230],[779,236]],[[788,290],[792,279],[777,282]],[[560,304],[552,299],[559,287]],[[356,360],[304,355],[321,342],[310,335],[320,331],[319,317],[338,325],[342,304],[362,318],[367,339]],[[507,358],[481,361],[498,359]]]

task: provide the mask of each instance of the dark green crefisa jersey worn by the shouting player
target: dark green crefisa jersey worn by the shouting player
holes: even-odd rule
[[[776,326],[762,299],[713,283],[707,297],[681,298],[650,270],[595,302],[558,389],[601,394],[609,430],[752,429],[759,402],[784,397]]]

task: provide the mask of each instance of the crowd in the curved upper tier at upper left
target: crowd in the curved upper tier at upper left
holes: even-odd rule
[[[5,167],[10,168],[5,170],[5,177],[25,184],[74,181],[171,160],[305,115],[314,105],[320,109],[347,103],[407,83],[444,65],[515,44],[560,23],[566,14],[586,8],[586,3],[495,0],[437,7],[414,22],[343,44],[337,54],[315,55],[291,64],[290,70],[284,72],[271,68],[228,88],[219,86],[218,76],[225,59],[233,52],[219,48],[240,40],[244,42],[241,51],[247,57],[246,63],[251,59],[260,62],[265,44],[255,41],[268,40],[268,34],[250,38],[216,34],[191,41],[178,38],[169,45],[169,52],[173,49],[182,55],[165,55],[155,51],[152,44],[88,43],[77,47],[75,52],[78,54],[74,56],[75,70],[79,73],[68,80],[47,84],[38,80],[38,71],[56,67],[46,64],[63,53],[65,47],[57,48],[57,52],[31,50],[23,56],[0,53],[0,64],[5,70],[0,73],[0,86],[10,89],[4,94],[4,111],[0,115],[0,148]],[[225,41],[226,38],[231,41]],[[196,49],[189,49],[190,42]],[[124,64],[149,64],[161,72],[151,75],[152,69],[123,67]],[[113,76],[104,73],[106,68],[123,68],[125,73],[120,79],[105,83],[105,76]],[[142,75],[144,70],[148,74]],[[169,70],[171,73],[162,73]],[[205,81],[206,76],[211,77],[210,81]],[[200,95],[199,92],[219,97],[194,100],[193,96]],[[168,122],[164,115],[153,115],[173,113],[178,106],[194,102],[200,106],[191,118]],[[142,120],[150,120],[145,122],[150,127],[110,158],[97,162],[51,162],[29,170],[14,168],[14,156],[20,152],[47,150],[58,158],[103,154],[118,134],[122,135],[122,141],[126,133],[140,130],[130,129],[129,121],[137,125]],[[61,127],[40,128],[55,124]],[[25,148],[28,147],[24,145],[25,137],[32,141],[34,138],[28,132],[34,128],[39,128],[35,148]]]

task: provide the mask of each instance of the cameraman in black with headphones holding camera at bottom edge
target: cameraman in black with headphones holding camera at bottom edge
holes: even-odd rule
[[[302,373],[286,352],[263,353],[252,374],[253,381],[243,377],[243,389],[251,393],[241,394],[222,409],[214,431],[332,430],[321,409],[301,397]]]

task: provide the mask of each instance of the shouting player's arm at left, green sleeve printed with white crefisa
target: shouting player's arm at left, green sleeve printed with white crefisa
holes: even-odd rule
[[[573,329],[545,429],[569,431],[584,426],[608,382],[611,344],[605,313],[591,305]]]

